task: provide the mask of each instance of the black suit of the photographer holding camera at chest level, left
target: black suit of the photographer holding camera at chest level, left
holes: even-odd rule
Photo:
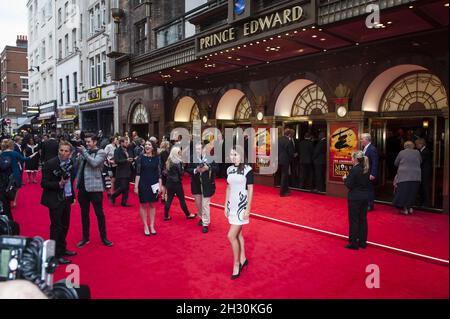
[[[66,236],[70,224],[70,206],[74,202],[75,193],[73,191],[73,169],[70,185],[71,196],[66,196],[64,188],[59,186],[60,177],[54,174],[60,169],[60,160],[54,157],[47,161],[42,168],[41,187],[44,189],[41,197],[41,204],[48,207],[50,213],[50,239],[56,242],[55,255],[62,257],[66,251]]]

